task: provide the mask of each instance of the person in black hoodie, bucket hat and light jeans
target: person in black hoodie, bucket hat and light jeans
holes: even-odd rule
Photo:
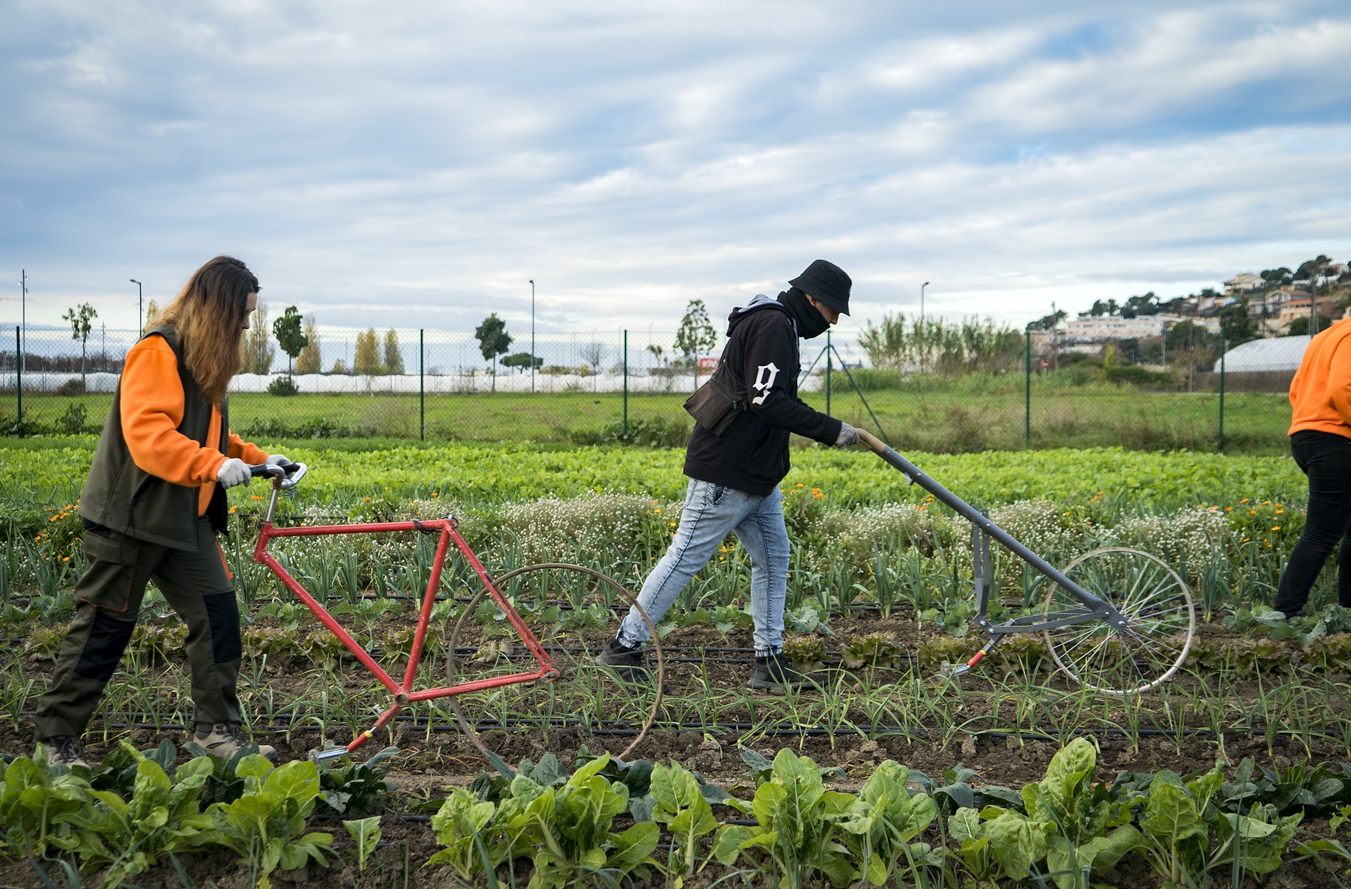
[[[685,451],[690,482],[680,527],[638,594],[638,604],[655,624],[735,531],[751,559],[755,662],[747,685],[755,689],[781,690],[812,681],[782,654],[789,550],[778,482],[789,469],[790,432],[836,447],[858,443],[854,427],[797,397],[797,340],[819,336],[840,313],[848,315],[851,284],[843,269],[817,259],[777,299],[758,295],[727,318],[721,363],[732,372],[728,376],[740,389],[736,395],[744,409],[721,435],[696,423]],[[647,623],[631,608],[596,662],[626,681],[643,678],[647,636]]]

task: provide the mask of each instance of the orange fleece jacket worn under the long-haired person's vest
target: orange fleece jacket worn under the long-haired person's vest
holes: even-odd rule
[[[182,382],[178,359],[163,336],[147,336],[131,347],[122,366],[122,435],[131,459],[142,470],[185,488],[201,488],[197,515],[205,515],[216,490],[216,472],[226,454],[203,447],[178,431],[182,423]],[[208,442],[220,440],[220,411],[212,405]],[[267,454],[230,434],[230,454],[261,463]]]

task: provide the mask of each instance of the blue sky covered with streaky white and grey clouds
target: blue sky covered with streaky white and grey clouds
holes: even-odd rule
[[[322,323],[1021,323],[1351,258],[1344,3],[0,3],[0,322],[218,253]]]

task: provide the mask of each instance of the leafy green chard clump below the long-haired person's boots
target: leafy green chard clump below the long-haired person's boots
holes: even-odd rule
[[[161,863],[177,866],[182,853],[222,848],[239,855],[250,885],[269,889],[278,867],[328,866],[332,835],[304,832],[315,807],[372,808],[393,786],[384,776],[399,751],[389,747],[339,767],[307,761],[273,767],[255,744],[230,762],[192,743],[188,753],[192,758],[176,766],[178,751],[169,740],[146,751],[123,740],[91,771],[50,763],[39,744],[31,759],[18,757],[0,773],[0,847],[28,861],[68,854],[84,873],[107,869],[107,886]],[[363,867],[380,839],[380,819],[343,824]]]

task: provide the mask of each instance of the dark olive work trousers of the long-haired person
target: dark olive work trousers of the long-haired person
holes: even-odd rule
[[[211,522],[197,519],[197,550],[173,550],[108,528],[84,534],[86,567],[76,585],[76,617],[57,654],[51,686],[38,704],[38,740],[84,735],[122,661],[154,578],[188,624],[197,724],[238,723],[239,604]]]

